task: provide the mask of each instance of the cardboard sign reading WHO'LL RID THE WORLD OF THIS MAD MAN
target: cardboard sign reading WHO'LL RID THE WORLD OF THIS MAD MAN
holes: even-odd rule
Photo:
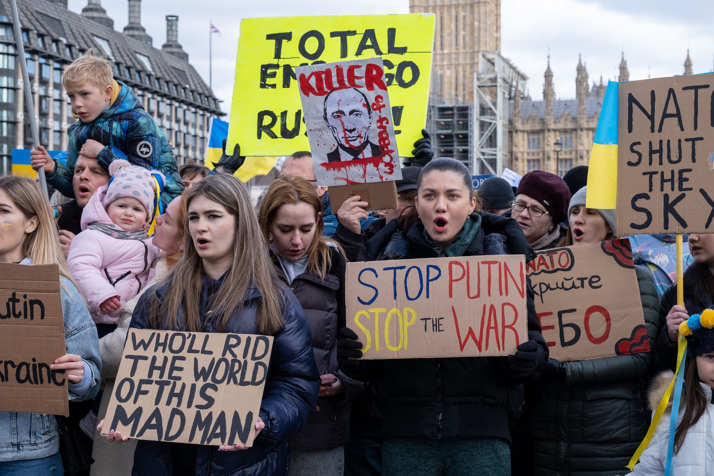
[[[272,345],[266,335],[130,329],[101,434],[252,446]]]

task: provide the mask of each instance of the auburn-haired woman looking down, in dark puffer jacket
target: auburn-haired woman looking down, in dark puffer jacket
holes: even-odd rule
[[[311,183],[282,176],[266,191],[258,213],[273,263],[305,310],[322,382],[319,410],[291,438],[288,476],[343,474],[350,402],[363,390],[363,383],[337,365],[337,332],[345,325],[345,257],[338,244],[321,236],[321,212]]]

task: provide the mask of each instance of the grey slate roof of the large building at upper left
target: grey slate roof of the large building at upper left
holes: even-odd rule
[[[196,106],[219,116],[223,115],[211,88],[208,88],[196,69],[188,62],[49,0],[17,0],[17,6],[23,31],[27,31],[29,36],[29,43],[25,42],[26,51],[36,51],[41,56],[68,64],[78,58],[81,52],[90,48],[96,48],[104,54],[101,45],[94,40],[94,36],[97,36],[109,43],[115,64],[121,66],[119,74],[114,71],[117,79],[130,86],[159,93],[161,96]],[[8,0],[0,0],[0,15],[11,18]],[[40,46],[38,36],[43,36],[44,46]],[[57,42],[57,52],[53,50],[53,41]],[[66,56],[65,45],[70,47],[71,57]],[[154,74],[148,71],[141,59],[136,56],[137,53],[149,58]],[[129,77],[124,71],[127,66]],[[137,71],[140,81],[136,80]],[[146,84],[147,74],[150,85]],[[158,87],[156,79],[159,80]],[[164,86],[166,81],[169,82],[169,91],[166,91]],[[177,88],[177,94],[174,94],[174,86]],[[181,93],[183,87],[187,88],[186,97]],[[191,99],[191,92],[193,92],[193,99]]]

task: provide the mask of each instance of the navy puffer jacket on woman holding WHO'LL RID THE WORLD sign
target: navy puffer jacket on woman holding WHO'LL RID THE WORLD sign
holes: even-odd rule
[[[200,315],[206,332],[216,332],[213,320],[206,320],[206,301],[216,293],[222,282],[223,277],[218,280],[203,277]],[[159,288],[146,290],[134,308],[130,328],[151,328],[151,302],[154,298],[161,301],[170,285],[171,281]],[[288,472],[288,438],[301,429],[315,408],[320,376],[303,308],[284,285],[279,285],[278,289],[281,290],[285,325],[273,334],[273,353],[259,413],[266,427],[248,450],[218,451],[218,446],[196,445],[196,475],[284,476]],[[258,334],[255,326],[258,298],[260,292],[256,288],[248,289],[243,308],[228,321],[226,333]],[[181,323],[182,313],[179,313],[177,320]],[[172,447],[170,442],[139,440],[134,452],[132,475],[170,476]]]

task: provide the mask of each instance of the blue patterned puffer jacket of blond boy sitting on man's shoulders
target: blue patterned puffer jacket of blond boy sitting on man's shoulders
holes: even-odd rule
[[[89,123],[76,121],[69,126],[67,163],[65,165],[55,159],[54,171],[47,174],[47,182],[62,195],[74,198],[74,164],[82,145],[88,139],[94,139],[105,146],[97,156],[105,170],[109,170],[112,161],[123,158],[133,165],[164,173],[166,185],[161,201],[167,206],[183,191],[174,152],[154,118],[144,111],[144,105],[134,91],[121,81],[119,86],[119,96],[98,118]]]

